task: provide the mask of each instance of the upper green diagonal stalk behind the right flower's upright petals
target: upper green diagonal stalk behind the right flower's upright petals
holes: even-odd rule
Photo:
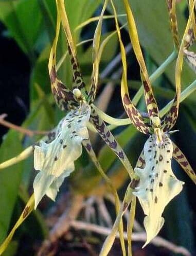
[[[176,50],[173,50],[173,52],[169,55],[169,57],[161,64],[161,66],[158,67],[158,69],[149,77],[150,82],[153,83],[159,76],[161,76],[166,67],[177,57]],[[133,97],[132,103],[136,106],[143,95],[144,87],[141,86],[135,96]]]

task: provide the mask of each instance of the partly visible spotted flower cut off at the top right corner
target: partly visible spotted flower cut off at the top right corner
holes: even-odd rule
[[[175,0],[166,0],[167,7],[169,11],[169,21],[170,27],[172,31],[174,46],[177,50],[180,49],[180,40],[177,28],[177,16],[176,16],[176,1]],[[195,9],[195,2],[193,0],[189,0],[189,14],[191,14],[192,8]],[[189,50],[189,47],[195,42],[196,40],[196,16],[193,12],[190,26],[185,38],[184,44],[184,55],[186,56],[186,60],[188,64],[192,67],[192,69],[196,72],[196,54]]]

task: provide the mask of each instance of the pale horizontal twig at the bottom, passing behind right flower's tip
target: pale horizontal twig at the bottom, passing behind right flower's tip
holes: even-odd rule
[[[111,233],[110,228],[100,227],[95,224],[84,223],[83,221],[78,221],[78,220],[72,220],[70,225],[75,229],[92,231],[92,232],[102,234],[102,235],[109,235]],[[116,234],[116,237],[119,238],[119,233]],[[124,232],[124,239],[127,240],[127,232]],[[132,233],[132,240],[133,241],[146,241],[146,233],[145,232]],[[185,256],[191,256],[190,252],[186,248],[184,248],[182,246],[177,246],[177,245],[165,240],[164,238],[162,238],[160,236],[156,236],[152,240],[151,243],[155,246],[165,247],[168,250],[175,252],[175,253],[181,253]]]

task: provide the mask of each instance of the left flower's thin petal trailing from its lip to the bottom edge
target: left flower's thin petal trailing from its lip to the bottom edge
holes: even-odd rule
[[[103,169],[102,169],[102,167],[101,167],[101,165],[100,165],[100,163],[99,163],[99,161],[98,161],[98,159],[95,155],[95,152],[93,150],[93,147],[91,145],[90,140],[88,140],[88,139],[83,140],[82,145],[85,147],[88,155],[90,156],[91,160],[93,161],[93,163],[97,167],[99,173],[101,174],[101,176],[105,180],[106,184],[108,184],[108,186],[110,187],[111,192],[113,193],[114,198],[115,198],[116,214],[118,215],[118,213],[120,211],[120,200],[119,200],[118,193],[117,193],[115,187],[113,186],[109,177],[104,173],[104,171],[103,171]],[[123,238],[123,223],[122,223],[122,220],[119,223],[118,230],[119,230],[119,234],[120,234],[120,243],[121,243],[121,248],[122,248],[122,251],[123,251],[123,255],[126,255],[126,249],[125,249],[124,238]]]

